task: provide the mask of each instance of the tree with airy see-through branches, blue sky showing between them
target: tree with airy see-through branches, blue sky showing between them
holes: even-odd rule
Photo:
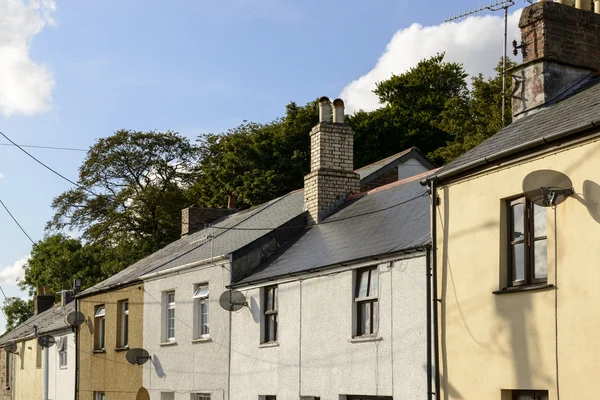
[[[93,245],[124,246],[121,266],[177,239],[198,150],[174,132],[120,130],[99,139],[78,186],[52,202],[49,230],[81,230]]]

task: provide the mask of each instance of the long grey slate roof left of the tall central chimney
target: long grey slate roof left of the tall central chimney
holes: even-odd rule
[[[304,192],[297,190],[260,206],[223,217],[213,223],[214,243],[207,238],[210,228],[182,237],[123,271],[84,290],[79,296],[87,296],[137,282],[140,276],[150,272],[206,260],[213,256],[228,255],[259,239],[269,231],[256,228],[278,227],[302,213],[304,213]]]

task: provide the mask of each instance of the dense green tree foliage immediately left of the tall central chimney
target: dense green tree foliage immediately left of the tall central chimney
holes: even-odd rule
[[[191,197],[198,204],[223,207],[233,194],[238,207],[248,207],[301,188],[310,169],[309,132],[318,120],[317,101],[305,106],[292,102],[275,121],[244,123],[201,137]]]

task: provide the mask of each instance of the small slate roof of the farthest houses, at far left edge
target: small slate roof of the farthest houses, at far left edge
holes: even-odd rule
[[[64,307],[55,305],[49,310],[34,315],[12,331],[0,336],[0,346],[8,341],[19,342],[33,338],[35,336],[34,326],[38,328],[38,335],[69,329],[66,317],[72,311],[75,311],[74,301]]]

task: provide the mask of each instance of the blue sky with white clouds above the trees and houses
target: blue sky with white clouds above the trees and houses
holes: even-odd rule
[[[444,24],[477,3],[0,0],[0,131],[19,144],[87,149],[122,128],[195,140],[244,120],[270,121],[290,101],[321,96],[342,97],[348,113],[373,110],[376,82],[439,52],[470,74],[493,74],[502,13]],[[516,3],[509,43],[519,38],[527,5]],[[52,199],[70,184],[6,143],[0,138],[0,200],[37,241]],[[85,157],[28,151],[72,180]],[[7,296],[27,297],[16,281],[30,251],[0,208]]]

